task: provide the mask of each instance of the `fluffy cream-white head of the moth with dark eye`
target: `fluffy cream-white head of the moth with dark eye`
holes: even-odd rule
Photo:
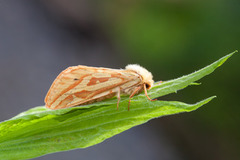
[[[126,70],[134,71],[142,77],[143,84],[146,85],[147,89],[152,88],[153,86],[153,76],[152,73],[141,67],[138,64],[129,64],[125,68]]]

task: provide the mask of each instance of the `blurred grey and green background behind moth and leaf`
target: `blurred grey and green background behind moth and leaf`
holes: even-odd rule
[[[138,63],[169,80],[239,49],[240,1],[0,1],[0,120],[35,106],[73,65]],[[36,160],[240,159],[240,56],[177,94],[195,112],[154,119],[86,149]]]

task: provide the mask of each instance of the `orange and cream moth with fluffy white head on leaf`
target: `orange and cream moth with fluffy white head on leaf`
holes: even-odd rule
[[[120,95],[131,98],[153,86],[153,76],[145,68],[130,64],[125,69],[110,69],[88,66],[73,66],[62,71],[52,83],[45,104],[50,109],[85,105],[117,96],[117,109]]]

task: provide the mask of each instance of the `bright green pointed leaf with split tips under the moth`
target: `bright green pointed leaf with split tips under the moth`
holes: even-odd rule
[[[149,96],[156,98],[198,84],[194,82],[213,72],[235,52],[187,76],[155,83]],[[130,111],[126,96],[121,97],[119,110],[116,110],[116,98],[60,110],[35,107],[0,123],[0,159],[29,159],[89,147],[153,118],[193,111],[214,97],[186,104],[151,102],[142,93],[132,98]]]

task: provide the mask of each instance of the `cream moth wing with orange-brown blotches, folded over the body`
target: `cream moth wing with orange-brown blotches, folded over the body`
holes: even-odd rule
[[[125,70],[87,66],[69,67],[51,85],[46,97],[47,108],[60,109],[114,96],[118,87],[140,82],[136,74]]]

